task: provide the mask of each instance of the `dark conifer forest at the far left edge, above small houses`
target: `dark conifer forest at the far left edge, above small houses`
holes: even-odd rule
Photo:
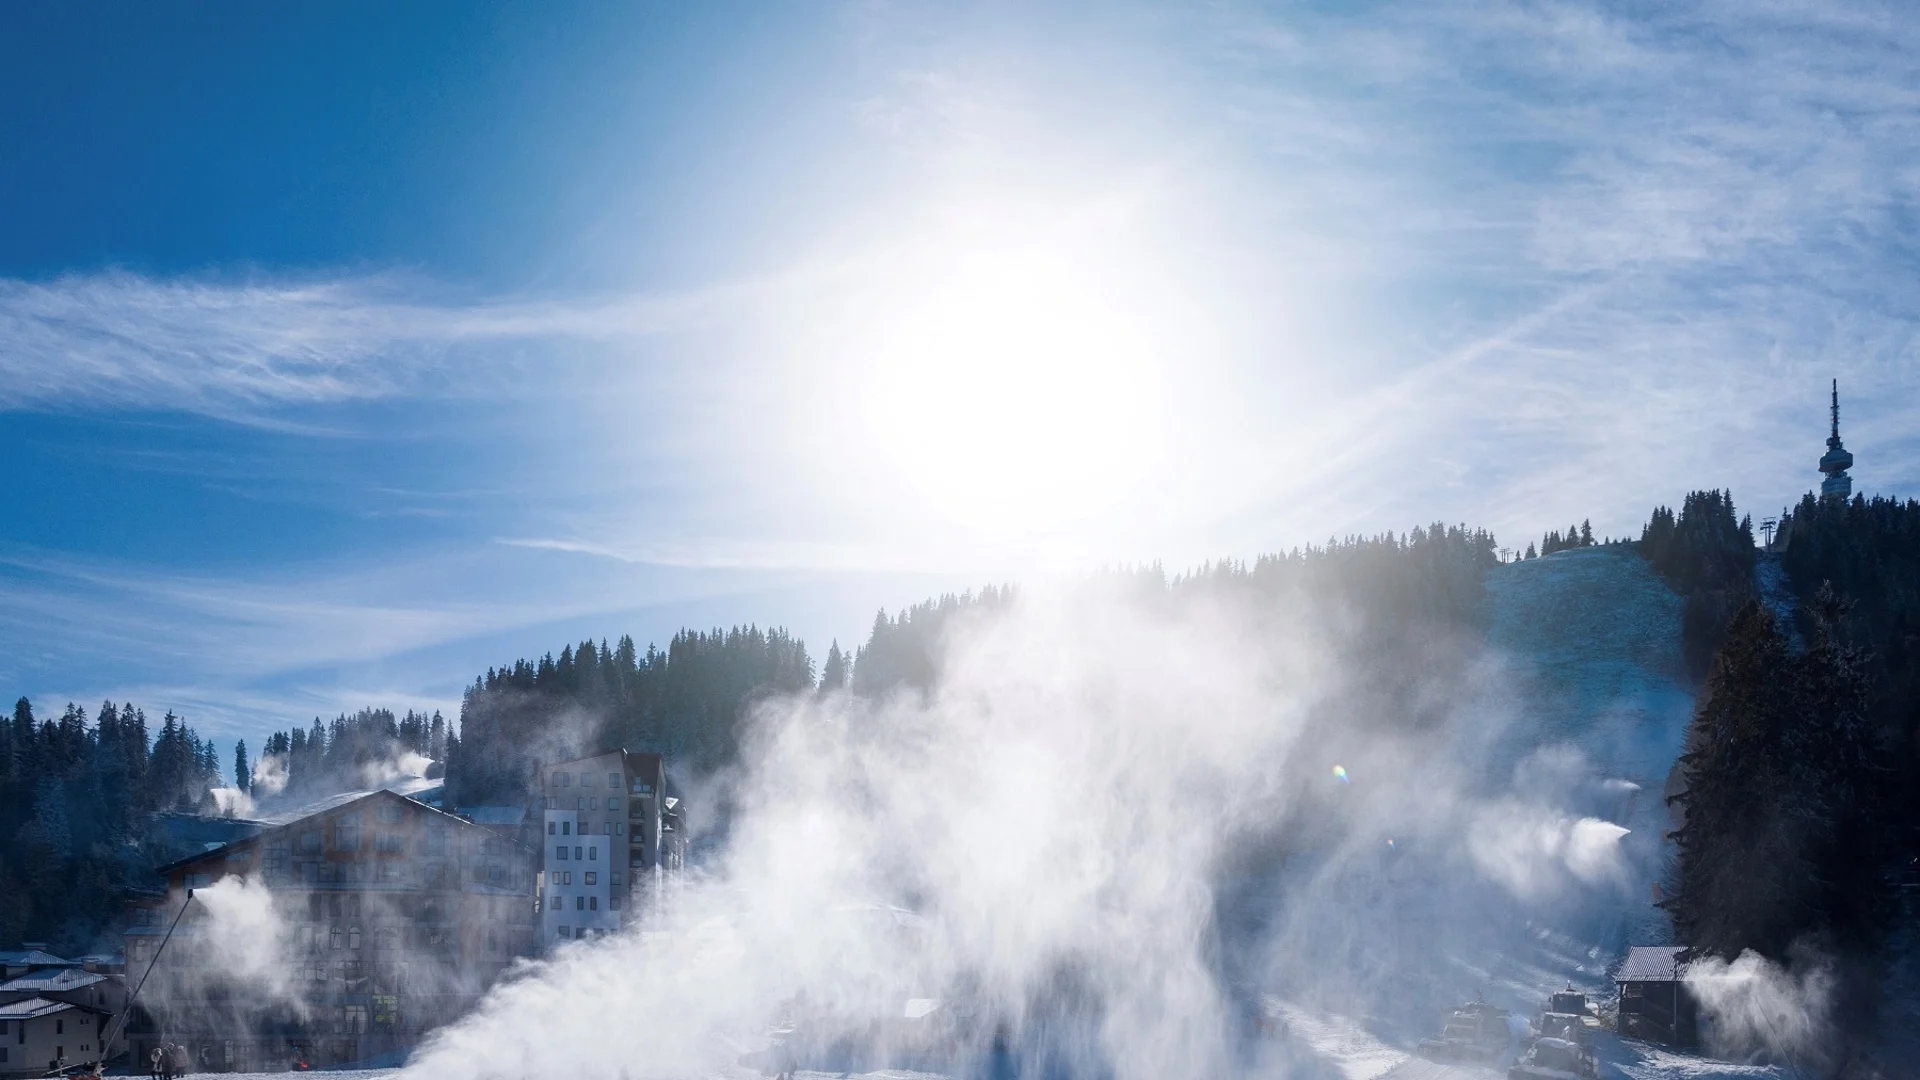
[[[36,719],[21,698],[0,721],[0,942],[94,944],[154,865],[154,811],[215,811],[211,740],[167,713],[106,701]]]

